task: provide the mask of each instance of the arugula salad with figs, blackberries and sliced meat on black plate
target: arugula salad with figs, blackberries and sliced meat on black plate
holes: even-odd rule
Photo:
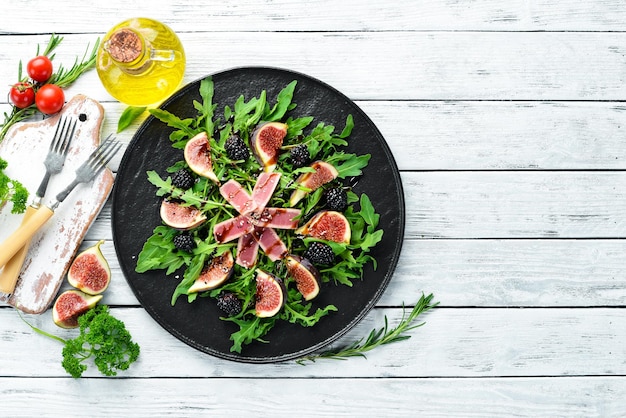
[[[167,213],[192,216],[193,222],[181,226],[165,215],[135,270],[164,270],[178,278],[172,306],[181,297],[217,303],[220,318],[238,326],[230,336],[231,352],[267,342],[277,321],[323,326],[337,308],[318,306],[317,291],[352,286],[368,263],[376,268],[369,253],[382,239],[379,215],[368,196],[350,186],[370,155],[344,150],[354,127],[351,115],[341,130],[315,115],[291,116],[296,85],[289,83],[275,99],[263,90],[218,109],[207,77],[200,83],[201,99],[193,102],[196,117],[150,110],[173,128],[169,139],[180,159],[165,173],[148,171],[148,181],[163,206],[174,205]],[[193,154],[192,142],[203,148]],[[203,159],[202,169],[194,155]],[[274,285],[269,292],[268,280]],[[270,308],[260,307],[268,303]]]

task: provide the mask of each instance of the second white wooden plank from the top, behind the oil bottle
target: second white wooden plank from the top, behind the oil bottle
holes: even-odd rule
[[[621,100],[624,33],[315,32],[182,33],[189,82],[238,66],[317,77],[358,100]],[[94,35],[67,35],[68,65]],[[0,37],[0,79],[17,77],[47,36]],[[237,45],[234,48],[233,45]],[[263,45],[260,47],[259,45]],[[324,51],[321,53],[320,51]],[[10,83],[10,81],[7,81]],[[111,100],[95,72],[68,94]],[[3,99],[4,100],[4,99]]]

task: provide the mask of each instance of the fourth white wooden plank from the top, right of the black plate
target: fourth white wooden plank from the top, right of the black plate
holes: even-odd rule
[[[626,232],[622,172],[405,172],[407,238],[606,238]]]

